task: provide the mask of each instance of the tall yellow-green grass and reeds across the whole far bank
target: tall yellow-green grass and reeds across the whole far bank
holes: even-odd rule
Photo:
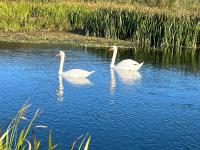
[[[152,47],[200,44],[200,11],[112,2],[0,2],[0,31],[74,31]],[[59,38],[59,37],[57,37]]]

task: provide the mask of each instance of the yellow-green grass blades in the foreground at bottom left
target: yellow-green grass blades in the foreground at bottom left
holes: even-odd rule
[[[33,115],[32,119],[29,121],[26,127],[19,130],[19,125],[24,120],[27,121],[25,113],[30,105],[27,103],[22,106],[22,108],[17,112],[16,116],[12,119],[7,129],[0,134],[0,150],[39,150],[41,141],[36,137],[33,128],[47,128],[43,125],[33,126],[33,123],[40,115],[40,110],[38,109]],[[31,134],[32,133],[32,137]],[[72,145],[71,150],[84,149],[88,150],[90,144],[91,136],[86,134],[85,136],[80,136]],[[79,143],[80,144],[79,144]],[[78,143],[78,144],[77,144]],[[48,136],[48,149],[53,150],[58,145],[53,144],[52,133],[49,131]]]

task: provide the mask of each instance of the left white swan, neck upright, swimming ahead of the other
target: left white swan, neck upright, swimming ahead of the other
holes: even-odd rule
[[[56,56],[60,56],[60,66],[58,74],[59,76],[63,76],[64,78],[87,78],[89,75],[94,73],[95,71],[87,71],[82,69],[71,69],[63,72],[63,65],[65,60],[65,53],[63,51],[59,51]]]

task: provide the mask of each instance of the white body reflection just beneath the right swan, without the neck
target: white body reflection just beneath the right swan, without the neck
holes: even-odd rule
[[[138,71],[125,71],[125,70],[116,70],[122,82],[125,84],[131,84],[135,81],[141,79],[141,74]]]

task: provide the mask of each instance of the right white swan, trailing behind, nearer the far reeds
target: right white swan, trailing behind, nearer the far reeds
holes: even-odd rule
[[[121,61],[120,63],[118,63],[117,65],[115,65],[115,59],[116,59],[116,56],[117,56],[117,46],[112,46],[109,51],[114,51],[113,52],[113,56],[112,56],[112,62],[110,64],[110,68],[114,68],[114,69],[117,69],[117,70],[131,70],[131,71],[137,71],[139,70],[143,63],[138,63],[134,60],[131,60],[131,59],[126,59],[126,60],[123,60]]]

